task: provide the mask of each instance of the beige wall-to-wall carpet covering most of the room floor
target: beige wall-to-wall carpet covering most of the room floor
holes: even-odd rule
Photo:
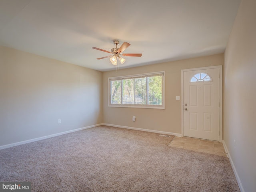
[[[0,150],[0,181],[34,192],[236,192],[228,158],[167,146],[174,138],[98,126]]]

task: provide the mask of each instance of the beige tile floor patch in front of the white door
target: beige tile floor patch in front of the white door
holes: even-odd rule
[[[169,144],[169,146],[205,152],[224,157],[227,156],[223,144],[217,141],[203,140],[190,137],[175,137]]]

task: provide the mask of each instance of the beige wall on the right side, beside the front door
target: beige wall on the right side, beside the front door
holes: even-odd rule
[[[246,192],[256,191],[255,20],[256,0],[242,0],[224,54],[224,141]]]

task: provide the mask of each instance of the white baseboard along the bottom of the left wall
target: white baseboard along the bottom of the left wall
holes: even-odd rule
[[[52,135],[48,135],[48,136],[43,136],[43,137],[39,137],[39,138],[34,138],[34,139],[26,140],[26,141],[21,141],[21,142],[11,143],[11,144],[7,144],[7,145],[2,145],[2,146],[0,146],[0,150],[5,149],[5,148],[9,148],[9,147],[14,147],[14,146],[26,144],[26,143],[30,143],[30,142],[34,142],[34,141],[48,139],[48,138],[51,138],[51,137],[56,137],[56,136],[59,136],[59,135],[72,133],[72,132],[75,132],[75,131],[80,131],[80,130],[83,130],[83,129],[88,129],[88,128],[92,128],[92,127],[96,127],[96,126],[100,126],[100,125],[102,125],[102,123],[87,126],[87,127],[83,127],[83,128],[78,128],[78,129],[74,129],[74,130],[69,130],[69,131],[65,131],[65,132],[61,132],[61,133],[56,133],[56,134],[52,134]]]

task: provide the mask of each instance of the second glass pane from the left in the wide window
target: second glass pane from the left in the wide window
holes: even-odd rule
[[[134,90],[134,79],[126,79],[123,80],[123,100],[122,104],[134,104],[133,98],[133,90]]]

